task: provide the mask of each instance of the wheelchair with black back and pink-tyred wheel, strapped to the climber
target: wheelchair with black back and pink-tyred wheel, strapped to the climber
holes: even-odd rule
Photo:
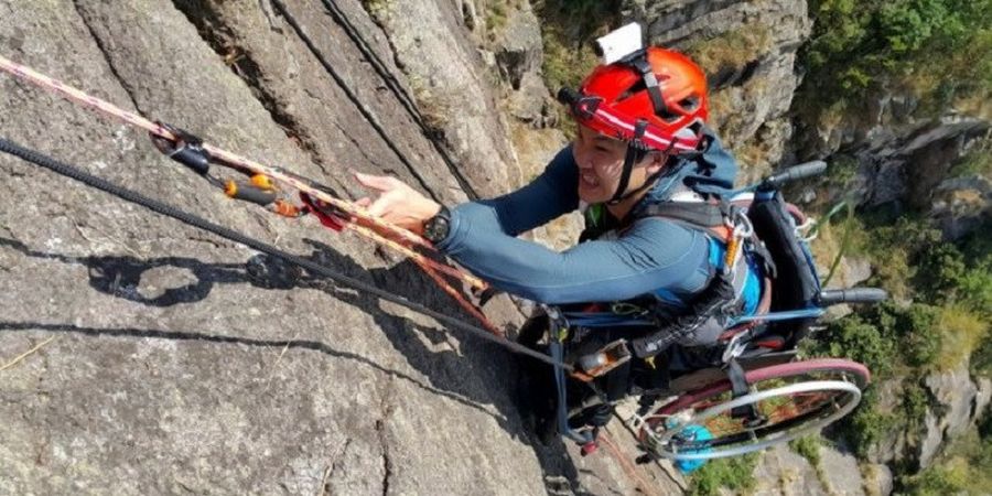
[[[802,236],[811,222],[779,190],[823,170],[826,163],[810,162],[735,192],[732,203],[747,216],[775,270],[765,277],[758,312],[729,320],[715,342],[671,343],[640,360],[628,346],[636,330],[596,328],[568,309],[546,306],[521,327],[518,341],[573,367],[570,374],[553,367],[558,433],[582,445],[583,454],[592,451],[590,419],[635,396],[640,408],[625,421],[646,453],[639,460],[692,462],[785,443],[851,412],[871,380],[867,368],[840,358],[799,360],[797,347],[828,306],[880,302],[887,294],[820,287]]]

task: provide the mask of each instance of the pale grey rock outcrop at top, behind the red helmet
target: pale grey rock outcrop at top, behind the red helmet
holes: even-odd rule
[[[646,25],[650,42],[679,48],[722,43],[745,52],[701,63],[712,93],[712,125],[746,165],[742,182],[786,157],[787,112],[800,78],[796,52],[812,22],[806,1],[627,0],[626,17]],[[715,65],[714,65],[715,62]]]

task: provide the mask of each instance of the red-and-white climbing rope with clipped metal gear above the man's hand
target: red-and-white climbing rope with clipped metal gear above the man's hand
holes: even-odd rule
[[[466,312],[477,319],[490,333],[498,336],[504,335],[500,330],[486,319],[477,306],[473,305],[461,292],[455,290],[442,274],[468,284],[470,288],[478,293],[488,289],[485,282],[465,273],[459,268],[416,251],[414,248],[420,248],[436,252],[427,239],[401,227],[385,223],[351,202],[334,197],[330,194],[330,188],[326,186],[281,168],[263,165],[204,143],[202,139],[187,131],[163,122],[151,121],[140,115],[123,110],[106,100],[88,95],[58,79],[41,74],[31,67],[17,64],[3,56],[0,56],[0,69],[40,88],[56,93],[78,105],[148,131],[159,151],[205,177],[212,185],[223,190],[228,197],[261,205],[270,212],[285,217],[300,217],[313,214],[327,228],[336,231],[348,229],[398,251],[417,263],[444,292],[451,295]],[[248,181],[225,181],[212,175],[212,165],[234,170],[246,175]],[[298,192],[302,204],[294,204],[284,195],[281,196],[280,188]]]

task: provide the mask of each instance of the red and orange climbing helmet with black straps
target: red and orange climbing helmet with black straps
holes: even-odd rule
[[[559,99],[575,120],[641,150],[696,151],[708,116],[707,76],[689,57],[656,46],[600,65]]]

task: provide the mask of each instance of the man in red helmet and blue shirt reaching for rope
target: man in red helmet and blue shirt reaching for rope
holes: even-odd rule
[[[733,187],[736,164],[704,127],[703,72],[684,55],[650,47],[596,67],[578,94],[560,97],[571,105],[576,136],[527,186],[449,211],[395,177],[356,174],[379,193],[358,203],[422,234],[496,289],[529,300],[637,308],[648,301],[653,315],[655,306],[669,315],[688,306],[723,269],[725,239],[650,211],[720,200]],[[516,238],[576,208],[584,209],[586,230],[568,250]],[[746,313],[759,284],[756,270],[743,267],[736,290]],[[686,344],[715,338],[711,330]],[[599,413],[593,424],[608,420],[608,411],[605,420]]]

